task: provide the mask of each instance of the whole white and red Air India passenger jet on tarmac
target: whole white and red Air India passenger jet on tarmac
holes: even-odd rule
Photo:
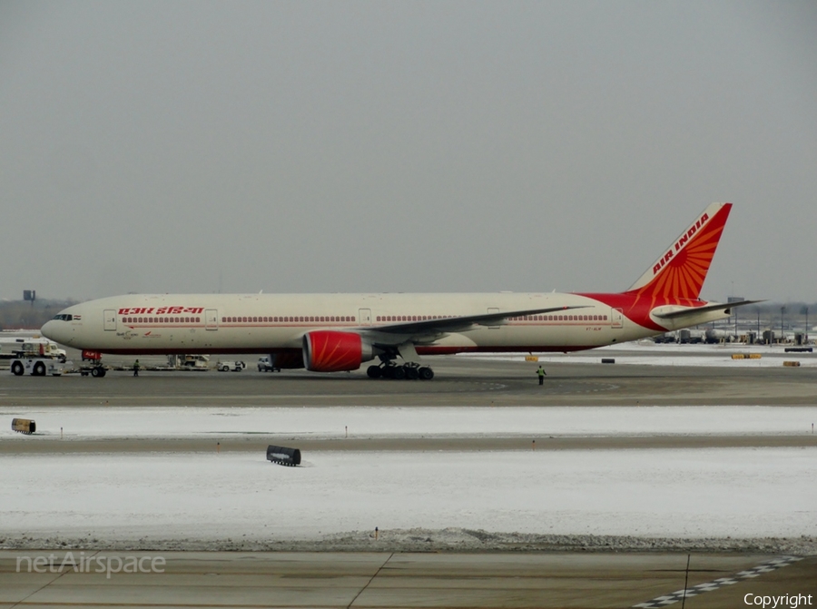
[[[713,203],[624,292],[129,294],[64,309],[44,336],[122,355],[263,353],[275,368],[434,377],[419,357],[577,351],[725,319],[699,300],[731,203]],[[399,363],[397,359],[401,360]]]

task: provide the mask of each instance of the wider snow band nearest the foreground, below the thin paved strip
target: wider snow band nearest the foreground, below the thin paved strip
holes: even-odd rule
[[[4,535],[817,535],[817,448],[0,457]]]

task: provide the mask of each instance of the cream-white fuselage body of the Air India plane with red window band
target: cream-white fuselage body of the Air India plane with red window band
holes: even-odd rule
[[[43,332],[75,349],[113,354],[275,353],[300,350],[304,334],[318,329],[376,333],[419,320],[564,307],[574,309],[441,333],[419,341],[417,351],[575,351],[672,329],[645,327],[624,307],[580,294],[162,294],[74,305]],[[723,317],[710,312],[700,323]]]

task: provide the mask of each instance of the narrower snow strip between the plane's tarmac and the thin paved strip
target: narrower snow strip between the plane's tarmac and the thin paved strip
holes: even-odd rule
[[[262,435],[346,437],[549,437],[640,435],[807,434],[813,407],[332,407],[0,408],[0,417],[33,418],[37,435],[10,427],[0,440],[36,442],[105,437],[213,437]]]

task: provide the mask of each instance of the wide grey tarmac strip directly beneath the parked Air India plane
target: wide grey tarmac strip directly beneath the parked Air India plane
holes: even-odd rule
[[[615,359],[605,350],[604,357]],[[808,354],[813,360],[812,354]],[[800,356],[805,359],[806,356]],[[3,406],[813,406],[817,367],[749,368],[572,363],[545,364],[539,387],[537,363],[448,356],[429,359],[431,381],[373,380],[352,373],[284,370],[260,373],[143,370],[111,371],[104,378],[59,378],[0,373]],[[598,358],[601,361],[601,356]],[[127,361],[116,362],[127,365]],[[143,366],[162,365],[143,358]]]

